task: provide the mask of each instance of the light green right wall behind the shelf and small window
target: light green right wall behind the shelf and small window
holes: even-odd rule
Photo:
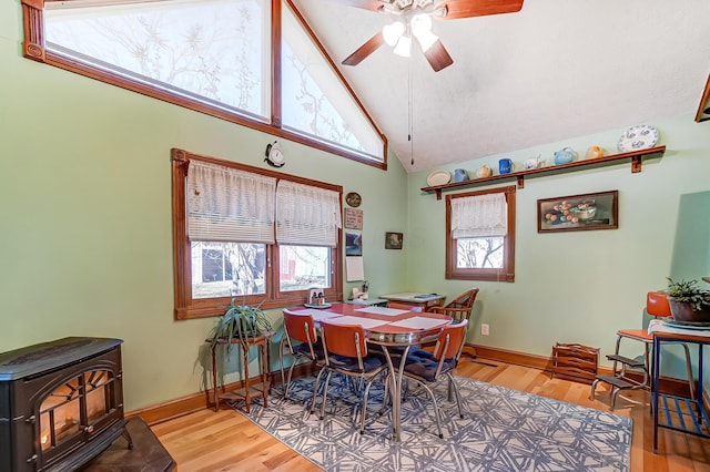
[[[662,158],[645,161],[641,173],[631,173],[629,164],[615,164],[526,179],[516,195],[514,284],[444,279],[445,202],[420,192],[432,170],[410,174],[405,236],[414,252],[407,257],[410,285],[447,295],[480,287],[470,342],[540,356],[549,356],[557,341],[612,352],[617,329],[645,322],[647,291],[665,288],[666,277],[673,273],[686,278],[710,274],[710,201],[693,195],[710,189],[710,123],[693,122],[693,114],[652,121],[660,132],[659,145],[667,151]],[[447,168],[453,173],[463,167],[475,175],[481,162],[497,170],[500,157],[511,157],[520,168],[538,154],[550,164],[552,153],[565,146],[580,155],[594,144],[616,153],[622,132],[610,130]],[[618,229],[537,233],[538,198],[610,189],[619,191]],[[687,201],[693,211],[684,211]],[[686,216],[679,219],[681,214]],[[489,336],[480,335],[481,322],[490,326]]]

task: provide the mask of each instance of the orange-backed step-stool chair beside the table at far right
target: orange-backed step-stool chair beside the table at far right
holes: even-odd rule
[[[668,294],[662,291],[649,291],[646,294],[646,312],[653,318],[670,318],[670,305],[668,304]],[[643,360],[631,359],[620,353],[622,340],[633,340],[643,343]],[[692,377],[692,365],[690,361],[690,350],[688,345],[680,343],[686,353],[686,374],[688,376],[688,384],[690,387],[690,398],[694,400],[696,392]],[[647,329],[619,329],[617,331],[617,342],[612,355],[608,355],[607,359],[612,361],[611,374],[599,374],[591,383],[591,400],[595,399],[595,390],[599,382],[611,386],[611,410],[616,403],[617,396],[621,390],[650,389],[651,356],[650,351],[653,346],[653,335]],[[642,371],[642,379],[630,376],[628,369],[637,369]]]

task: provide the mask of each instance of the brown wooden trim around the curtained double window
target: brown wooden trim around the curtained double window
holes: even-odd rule
[[[187,166],[191,160],[200,160],[212,164],[253,172],[278,179],[286,179],[304,185],[326,188],[341,194],[341,207],[343,199],[343,187],[339,185],[326,184],[310,178],[287,175],[281,172],[263,170],[246,164],[239,164],[231,161],[223,161],[215,157],[194,154],[184,150],[172,150],[172,185],[173,185],[173,264],[174,264],[174,286],[175,286],[175,319],[191,319],[219,316],[224,314],[224,308],[230,305],[232,297],[220,297],[209,299],[192,298],[192,267],[191,246],[186,229],[186,205],[185,189]],[[331,280],[332,286],[324,290],[326,299],[343,299],[343,250],[342,229],[338,229],[338,246],[331,249]],[[257,305],[262,304],[263,309],[284,308],[302,305],[307,298],[307,290],[294,290],[282,293],[278,290],[278,245],[266,245],[266,294],[237,296],[240,304]]]

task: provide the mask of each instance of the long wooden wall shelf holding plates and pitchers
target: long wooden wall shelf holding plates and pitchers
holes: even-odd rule
[[[423,187],[424,193],[436,193],[436,199],[442,199],[442,192],[454,188],[491,185],[498,182],[517,181],[518,188],[525,186],[525,177],[538,177],[542,175],[566,174],[568,172],[584,171],[585,168],[605,167],[618,164],[619,161],[629,161],[631,163],[631,172],[641,172],[641,162],[643,158],[660,157],[666,153],[666,146],[657,146],[648,150],[632,151],[621,154],[609,154],[601,157],[588,158],[584,161],[570,162],[569,164],[550,165],[547,167],[531,168],[529,171],[511,172],[510,174],[493,175],[490,177],[470,178],[468,181],[452,182],[446,185],[436,185],[432,187]]]

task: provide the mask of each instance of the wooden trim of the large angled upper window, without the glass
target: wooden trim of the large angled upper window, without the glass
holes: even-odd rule
[[[323,44],[317,40],[313,30],[308,27],[304,17],[298,11],[297,7],[293,4],[291,0],[286,0],[288,6],[294,12],[296,19],[301,22],[301,25],[311,37],[312,41],[316,45],[316,48],[321,51],[326,62],[331,65],[331,69],[334,74],[338,78],[343,86],[348,91],[348,93],[353,96],[353,100],[359,107],[363,115],[367,119],[367,121],[372,124],[373,129],[379,135],[383,141],[383,155],[382,162],[368,160],[362,155],[358,155],[353,152],[348,152],[338,146],[329,145],[327,143],[323,143],[321,141],[312,140],[308,136],[294,133],[288,130],[282,129],[282,120],[281,120],[281,1],[282,0],[271,0],[272,4],[272,29],[271,29],[271,38],[272,38],[272,51],[271,51],[271,60],[272,60],[272,88],[271,88],[271,122],[262,122],[258,120],[250,119],[248,116],[244,116],[237,113],[229,112],[219,106],[212,106],[207,103],[203,103],[196,100],[190,100],[187,98],[171,93],[165,90],[152,88],[144,83],[133,81],[116,74],[112,74],[108,71],[80,63],[77,61],[72,61],[65,57],[54,54],[51,51],[47,51],[45,42],[44,42],[44,20],[43,20],[43,9],[44,3],[47,1],[62,1],[62,0],[22,0],[22,17],[24,24],[24,42],[23,42],[23,53],[28,59],[32,59],[38,62],[42,62],[49,65],[53,65],[65,71],[74,72],[80,75],[88,76],[90,79],[98,80],[100,82],[104,82],[111,85],[120,86],[121,89],[130,90],[132,92],[136,92],[153,99],[158,99],[173,105],[182,106],[189,110],[193,110],[200,113],[204,113],[210,116],[214,116],[224,121],[229,121],[234,124],[239,124],[241,126],[250,127],[252,130],[261,131],[263,133],[267,133],[277,137],[282,137],[284,140],[293,141],[298,144],[303,144],[305,146],[316,148],[320,151],[324,151],[331,154],[338,155],[341,157],[348,158],[351,161],[356,161],[362,164],[371,165],[376,168],[381,168],[383,171],[387,170],[387,138],[379,131],[379,127],[375,124],[375,121],[369,115],[369,113],[363,106],[363,103],[355,94],[354,90],[351,88],[345,76],[339,72],[333,59],[328,55]]]

